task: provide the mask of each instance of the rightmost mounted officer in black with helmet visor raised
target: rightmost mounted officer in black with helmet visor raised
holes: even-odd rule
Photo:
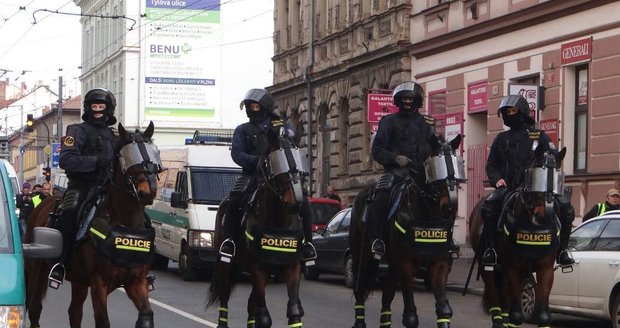
[[[557,152],[555,145],[544,131],[532,128],[535,122],[529,112],[527,100],[519,95],[504,97],[497,110],[497,115],[501,115],[504,125],[509,127],[509,130],[499,133],[493,140],[486,165],[489,183],[495,190],[484,201],[481,213],[484,220],[482,235],[486,245],[482,255],[484,265],[492,266],[497,263],[495,236],[502,202],[507,194],[514,192],[523,183],[525,170],[536,146],[542,145],[545,151]],[[562,222],[558,263],[562,266],[571,265],[575,261],[566,248],[575,212],[570,200],[560,198],[558,202]]]

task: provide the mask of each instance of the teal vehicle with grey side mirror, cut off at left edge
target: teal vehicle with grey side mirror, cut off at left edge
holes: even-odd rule
[[[62,252],[62,235],[51,228],[35,228],[32,243],[22,245],[14,173],[7,161],[0,161],[0,327],[26,326],[24,257],[58,258]]]

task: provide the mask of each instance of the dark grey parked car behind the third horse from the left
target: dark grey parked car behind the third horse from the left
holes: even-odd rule
[[[352,288],[353,260],[349,247],[349,228],[351,226],[351,207],[347,207],[333,216],[325,228],[320,228],[314,236],[317,258],[315,264],[304,267],[304,277],[308,280],[317,280],[321,273],[336,273],[344,275],[344,284]],[[387,273],[387,264],[379,264],[379,278]],[[418,270],[418,278],[424,281],[424,286],[430,289],[430,279],[426,274],[426,267]]]

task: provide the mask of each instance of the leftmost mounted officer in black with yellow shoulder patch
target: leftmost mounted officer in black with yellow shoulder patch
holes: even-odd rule
[[[64,263],[75,238],[78,210],[86,201],[97,197],[95,191],[111,178],[117,138],[110,125],[116,123],[116,98],[112,92],[96,88],[84,96],[84,113],[80,124],[67,126],[60,150],[60,168],[67,178],[67,191],[60,206],[56,228],[63,235],[63,253],[60,262],[49,276],[50,287],[58,288],[65,276]]]

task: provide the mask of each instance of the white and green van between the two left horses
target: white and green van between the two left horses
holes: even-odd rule
[[[179,263],[183,280],[212,270],[217,258],[215,215],[241,168],[230,156],[232,130],[196,131],[184,146],[160,147],[157,196],[146,209],[155,228],[152,268]]]

